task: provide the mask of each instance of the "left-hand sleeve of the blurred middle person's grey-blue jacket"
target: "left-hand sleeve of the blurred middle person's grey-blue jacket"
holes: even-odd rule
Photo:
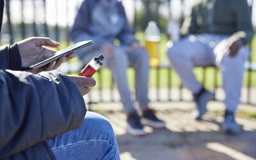
[[[100,35],[92,35],[88,31],[88,26],[90,26],[90,11],[92,10],[92,8],[90,8],[92,7],[91,3],[92,1],[83,1],[77,12],[74,26],[71,29],[71,36],[74,42],[93,40],[93,45],[95,47],[100,47],[104,43],[104,37]]]

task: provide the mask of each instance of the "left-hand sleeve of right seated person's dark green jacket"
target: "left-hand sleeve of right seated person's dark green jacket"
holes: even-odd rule
[[[191,11],[191,15],[188,15],[180,29],[180,35],[187,36],[189,34],[196,34],[198,27],[196,24],[196,6],[194,5]]]

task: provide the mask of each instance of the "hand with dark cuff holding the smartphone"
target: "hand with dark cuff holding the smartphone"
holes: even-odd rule
[[[47,47],[59,46],[58,42],[46,37],[30,37],[13,45],[2,46],[0,47],[0,69],[22,70],[22,67],[28,68],[55,54],[56,50]],[[74,57],[76,57],[75,52],[31,72],[37,74],[42,71],[54,70],[60,67],[61,63]]]

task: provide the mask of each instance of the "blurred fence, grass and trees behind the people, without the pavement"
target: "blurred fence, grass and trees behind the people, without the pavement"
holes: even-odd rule
[[[61,43],[59,49],[72,44],[69,31],[74,23],[77,10],[83,0],[6,0],[3,38],[1,45],[13,44],[30,36],[48,36]],[[182,87],[180,79],[172,70],[166,56],[168,36],[166,33],[177,31],[184,17],[190,14],[194,0],[122,0],[129,23],[134,29],[136,38],[146,46],[145,29],[148,22],[155,21],[161,34],[157,52],[158,63],[150,69],[150,100],[157,102],[190,101],[191,93]],[[253,0],[248,0],[252,17],[255,17]],[[256,18],[252,18],[254,21]],[[255,22],[253,21],[253,24]],[[174,26],[172,25],[174,22]],[[169,27],[168,27],[169,24]],[[171,24],[171,25],[170,25]],[[256,105],[256,45],[252,42],[252,55],[246,62],[241,102]],[[116,40],[118,44],[118,40]],[[58,70],[68,74],[77,74],[84,64],[77,59],[68,61]],[[129,68],[129,85],[134,91],[134,70]],[[196,78],[212,92],[216,100],[223,100],[225,95],[221,89],[221,74],[215,67],[196,67]],[[86,98],[88,103],[118,102],[118,92],[111,72],[102,68],[95,74],[97,86]],[[135,92],[135,91],[134,91]]]

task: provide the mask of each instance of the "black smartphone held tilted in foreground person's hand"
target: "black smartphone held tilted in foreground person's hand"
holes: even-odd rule
[[[30,67],[23,68],[23,70],[35,70],[36,68],[47,65],[48,63],[51,63],[52,61],[58,60],[58,58],[67,56],[67,54],[78,51],[79,49],[83,49],[84,47],[91,45],[91,44],[92,44],[92,40],[77,42],[76,44],[70,45],[69,47],[62,49],[61,51],[57,51],[54,54],[54,56],[47,58],[46,60],[41,61],[39,63],[36,63],[35,65],[31,65]]]

